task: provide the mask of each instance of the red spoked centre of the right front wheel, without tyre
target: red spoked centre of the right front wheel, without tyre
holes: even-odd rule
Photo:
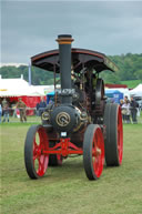
[[[92,141],[92,164],[97,177],[101,176],[104,164],[104,141],[100,129],[97,129]]]

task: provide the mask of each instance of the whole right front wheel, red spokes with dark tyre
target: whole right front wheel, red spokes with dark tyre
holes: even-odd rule
[[[101,128],[90,124],[84,133],[83,165],[89,180],[101,176],[104,164],[104,141]]]

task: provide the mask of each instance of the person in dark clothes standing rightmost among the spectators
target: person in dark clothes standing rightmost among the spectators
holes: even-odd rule
[[[139,104],[133,99],[133,96],[131,96],[130,111],[131,111],[131,118],[132,118],[133,123],[138,123],[138,119],[136,119],[138,109],[136,108],[139,108]]]

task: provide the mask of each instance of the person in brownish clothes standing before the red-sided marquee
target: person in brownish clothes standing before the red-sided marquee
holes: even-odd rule
[[[17,109],[19,109],[20,111],[20,121],[23,122],[23,121],[27,121],[27,114],[26,114],[26,103],[22,101],[21,98],[19,98],[19,101],[17,103]]]

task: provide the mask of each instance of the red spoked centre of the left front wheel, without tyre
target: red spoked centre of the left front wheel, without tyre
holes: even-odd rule
[[[39,137],[39,142],[37,137]],[[33,166],[39,176],[43,176],[48,167],[49,155],[42,153],[42,151],[45,150],[48,145],[49,141],[47,134],[44,130],[40,128],[36,132],[33,140]]]

